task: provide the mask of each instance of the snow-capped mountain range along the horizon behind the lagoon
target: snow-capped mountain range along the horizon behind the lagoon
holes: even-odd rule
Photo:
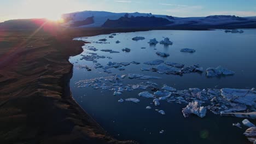
[[[63,27],[72,28],[170,28],[170,29],[213,29],[213,28],[256,28],[256,17],[235,15],[211,15],[206,17],[175,17],[147,13],[111,13],[107,11],[79,11],[62,15]],[[0,28],[34,28],[46,19],[9,20],[0,23]],[[47,22],[46,25],[59,24]]]

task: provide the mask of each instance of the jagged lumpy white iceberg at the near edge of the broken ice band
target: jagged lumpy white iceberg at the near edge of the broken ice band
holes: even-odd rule
[[[187,107],[183,108],[182,113],[184,117],[188,117],[190,113],[194,113],[195,115],[199,117],[205,117],[206,115],[206,108],[203,106],[200,106],[198,101],[193,101],[187,105]]]

